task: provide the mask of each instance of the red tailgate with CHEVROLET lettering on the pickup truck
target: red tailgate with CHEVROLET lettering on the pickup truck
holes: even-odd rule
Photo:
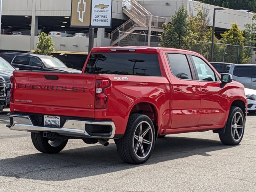
[[[94,118],[95,76],[14,72],[14,112]]]

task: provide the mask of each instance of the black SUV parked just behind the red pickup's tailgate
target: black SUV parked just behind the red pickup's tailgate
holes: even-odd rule
[[[81,73],[80,70],[68,68],[59,59],[46,55],[5,52],[1,53],[0,57],[4,58],[12,66],[19,68],[20,70],[66,71]]]

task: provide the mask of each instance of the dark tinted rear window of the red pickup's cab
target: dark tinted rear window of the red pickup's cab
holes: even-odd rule
[[[92,53],[85,73],[161,76],[157,54]]]

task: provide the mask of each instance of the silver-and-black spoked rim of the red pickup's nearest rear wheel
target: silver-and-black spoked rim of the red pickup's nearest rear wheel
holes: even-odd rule
[[[144,159],[150,154],[153,145],[153,132],[151,125],[142,121],[134,131],[133,150],[136,156]]]

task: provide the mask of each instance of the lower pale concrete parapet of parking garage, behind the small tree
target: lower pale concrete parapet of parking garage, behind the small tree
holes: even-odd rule
[[[79,37],[52,37],[57,51],[88,52],[89,38]],[[18,42],[18,43],[17,43]],[[38,43],[38,36],[35,36],[34,49]],[[60,46],[60,44],[65,46]],[[74,45],[74,46],[73,46]],[[99,45],[97,38],[94,38],[94,46],[110,46],[110,39],[104,39]],[[30,36],[23,35],[1,35],[1,50],[30,51]]]

